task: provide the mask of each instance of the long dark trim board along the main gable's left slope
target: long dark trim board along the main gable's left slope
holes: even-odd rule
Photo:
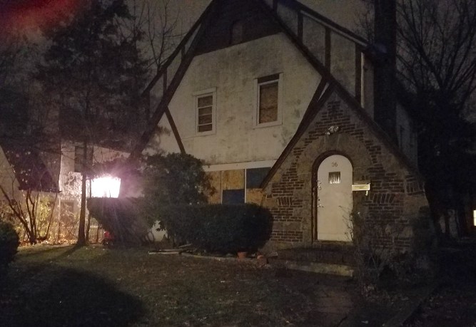
[[[131,155],[129,157],[130,160],[136,160],[138,157],[140,157],[143,149],[146,147],[148,141],[151,139],[158,122],[161,120],[163,113],[165,112],[168,106],[168,103],[170,103],[170,101],[172,100],[173,95],[175,94],[178,88],[178,85],[181,83],[182,78],[183,76],[185,76],[185,73],[188,69],[188,66],[190,66],[190,63],[192,62],[193,57],[195,56],[195,51],[198,46],[198,43],[200,43],[201,39],[203,38],[203,34],[205,33],[205,30],[208,24],[210,24],[213,16],[216,15],[216,8],[218,6],[218,3],[219,1],[217,0],[212,1],[211,4],[207,7],[205,13],[203,13],[201,18],[199,19],[199,21],[201,21],[199,27],[200,29],[198,30],[196,37],[193,38],[191,46],[188,49],[186,56],[183,58],[183,61],[181,62],[180,66],[178,67],[175,76],[173,76],[170,85],[168,85],[168,88],[164,91],[161,102],[158,103],[149,125],[147,126],[144,133],[141,135],[141,138],[138,140],[136,147],[134,147],[134,149],[132,150]]]

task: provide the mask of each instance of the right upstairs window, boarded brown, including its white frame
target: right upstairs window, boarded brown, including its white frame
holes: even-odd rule
[[[256,85],[256,125],[281,123],[282,73],[258,78]]]

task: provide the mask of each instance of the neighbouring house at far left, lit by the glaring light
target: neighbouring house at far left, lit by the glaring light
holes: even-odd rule
[[[42,154],[32,147],[2,140],[0,147],[0,212],[9,212],[9,202],[19,204],[24,217],[30,219],[30,210],[36,206],[36,223],[39,234],[50,240],[76,240],[81,207],[81,145],[63,142],[61,152]],[[91,146],[90,162],[93,167],[128,157],[128,152],[108,147]],[[57,163],[59,163],[57,165]],[[101,176],[87,181],[87,197],[118,197],[121,180],[116,176]],[[29,202],[30,208],[26,207]],[[46,209],[47,208],[47,209]],[[45,212],[46,210],[46,212]],[[51,220],[51,223],[49,221]],[[101,239],[99,226],[91,221],[91,241]]]

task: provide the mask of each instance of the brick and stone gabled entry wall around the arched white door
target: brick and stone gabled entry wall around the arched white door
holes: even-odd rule
[[[338,93],[330,95],[265,188],[265,206],[274,217],[271,241],[313,243],[313,170],[325,157],[340,154],[352,162],[353,182],[371,183],[368,195],[353,192],[353,210],[381,228],[375,241],[408,249],[412,219],[427,206],[423,184],[398,150],[368,124]],[[326,135],[330,126],[338,126],[338,132]]]

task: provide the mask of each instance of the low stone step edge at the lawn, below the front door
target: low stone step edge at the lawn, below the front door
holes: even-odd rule
[[[354,269],[344,264],[325,264],[323,262],[293,261],[283,259],[269,259],[271,265],[282,265],[288,269],[310,271],[317,274],[328,274],[352,277]]]

